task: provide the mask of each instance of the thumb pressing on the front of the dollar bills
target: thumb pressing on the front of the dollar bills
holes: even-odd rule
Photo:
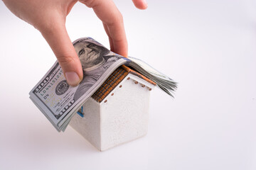
[[[65,23],[52,23],[51,26],[39,30],[57,57],[68,84],[77,86],[82,80],[82,66]]]

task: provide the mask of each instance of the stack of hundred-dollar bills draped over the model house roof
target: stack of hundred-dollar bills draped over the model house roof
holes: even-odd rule
[[[117,55],[92,38],[80,38],[75,40],[73,45],[84,74],[80,84],[75,87],[69,86],[60,64],[55,62],[29,93],[33,103],[59,132],[65,130],[82,104],[122,64],[148,77],[170,96],[177,87],[175,81],[150,67],[149,64],[134,57]]]

